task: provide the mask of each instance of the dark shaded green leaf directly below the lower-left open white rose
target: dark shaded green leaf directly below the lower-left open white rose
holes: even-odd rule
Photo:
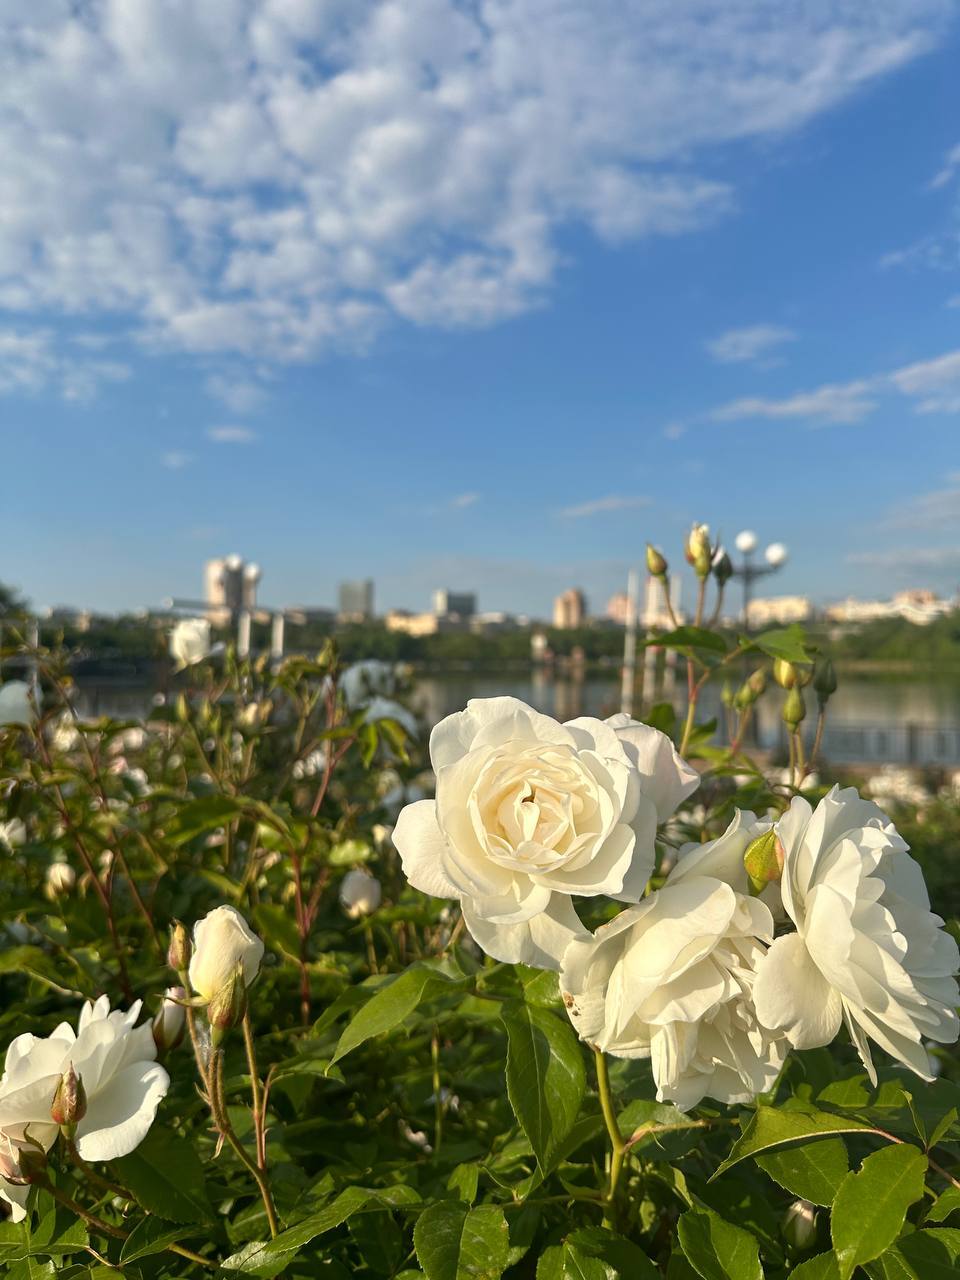
[[[202,1222],[211,1216],[196,1148],[172,1130],[154,1126],[140,1147],[114,1166],[147,1213],[168,1222]]]

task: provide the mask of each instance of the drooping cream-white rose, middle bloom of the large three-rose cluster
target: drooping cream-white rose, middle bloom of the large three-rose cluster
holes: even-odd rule
[[[756,964],[773,937],[758,899],[712,876],[667,881],[571,942],[559,984],[581,1039],[616,1057],[649,1057],[658,1101],[749,1102],[771,1088],[787,1044],[753,1009]]]

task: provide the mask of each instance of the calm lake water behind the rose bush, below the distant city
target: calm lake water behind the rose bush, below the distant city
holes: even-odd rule
[[[81,677],[77,709],[82,716],[136,718],[146,713],[152,689],[142,681]],[[412,703],[429,724],[460,710],[470,698],[509,694],[557,719],[609,716],[620,709],[620,677],[609,672],[444,672],[421,675]],[[677,713],[685,707],[685,687],[663,690]],[[813,733],[815,698],[808,696],[806,730]],[[771,750],[786,745],[780,719],[782,692],[772,687],[760,699],[754,745]],[[700,698],[700,718],[723,722],[719,690],[708,686]],[[842,676],[829,703],[824,755],[837,763],[897,763],[960,765],[960,682]]]

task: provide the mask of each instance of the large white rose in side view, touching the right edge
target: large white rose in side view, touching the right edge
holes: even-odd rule
[[[833,787],[815,810],[796,796],[777,833],[796,933],[759,966],[758,1018],[796,1048],[828,1044],[845,1021],[874,1083],[869,1039],[933,1079],[923,1041],[957,1038],[959,956],[908,845],[852,787]]]

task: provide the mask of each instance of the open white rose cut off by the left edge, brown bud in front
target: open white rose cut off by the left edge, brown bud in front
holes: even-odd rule
[[[134,1027],[138,1016],[140,1001],[125,1014],[110,1012],[101,996],[83,1006],[76,1033],[60,1023],[47,1037],[18,1036],[6,1051],[0,1080],[0,1135],[17,1143],[28,1134],[49,1151],[59,1133],[50,1107],[64,1071],[73,1065],[87,1096],[86,1114],[77,1124],[82,1158],[128,1156],[146,1137],[170,1084],[155,1061],[150,1024]],[[12,1204],[14,1221],[23,1219],[26,1197],[17,1198],[3,1178],[0,1197]]]

